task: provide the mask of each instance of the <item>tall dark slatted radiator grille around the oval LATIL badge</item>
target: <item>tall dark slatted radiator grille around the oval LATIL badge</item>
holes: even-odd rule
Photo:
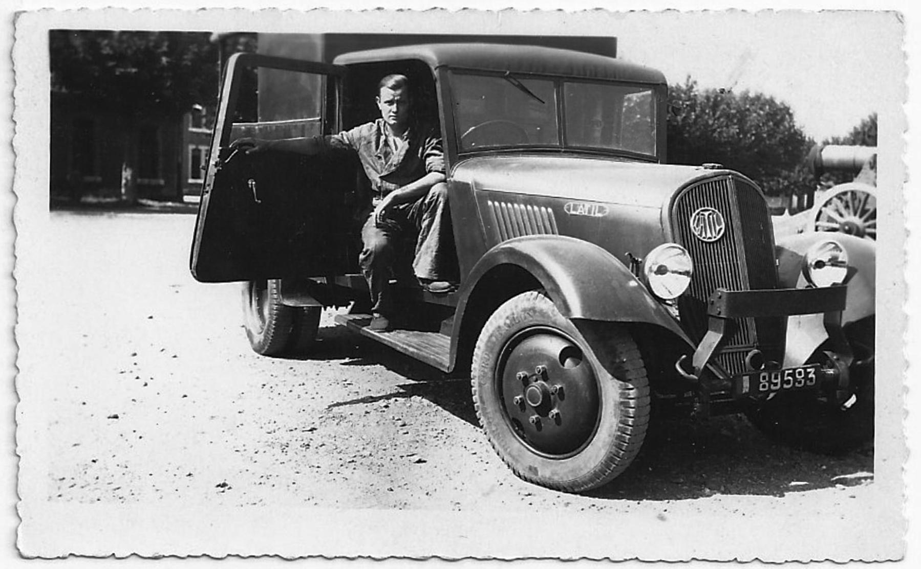
[[[700,208],[713,208],[726,221],[726,232],[716,242],[701,241],[691,231],[691,216]],[[671,222],[676,240],[694,259],[694,276],[679,299],[679,310],[682,325],[695,340],[700,341],[706,332],[706,300],[717,288],[777,287],[771,220],[757,188],[729,176],[698,182],[675,199]],[[752,347],[759,347],[767,358],[778,358],[784,322],[776,318],[734,321],[716,363],[731,374],[740,373]]]

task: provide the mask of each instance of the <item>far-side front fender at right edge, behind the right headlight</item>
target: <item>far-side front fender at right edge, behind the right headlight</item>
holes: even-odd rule
[[[777,273],[780,286],[802,288],[802,260],[810,246],[832,239],[847,252],[850,269],[847,275],[847,304],[841,324],[847,325],[876,313],[876,243],[844,233],[801,233],[777,241]],[[797,366],[806,361],[828,334],[822,314],[791,316],[787,324],[787,352],[784,366]]]

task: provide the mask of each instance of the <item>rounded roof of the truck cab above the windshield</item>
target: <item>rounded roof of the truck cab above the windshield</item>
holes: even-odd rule
[[[352,51],[332,63],[384,63],[420,60],[432,69],[448,66],[514,74],[548,74],[612,81],[665,85],[665,75],[655,69],[584,51],[497,43],[429,43],[379,50]]]

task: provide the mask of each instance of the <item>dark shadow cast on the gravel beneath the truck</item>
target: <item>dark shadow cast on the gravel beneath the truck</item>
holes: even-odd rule
[[[332,406],[419,395],[471,425],[479,425],[469,378],[449,378],[341,326],[321,329],[320,338],[311,359],[346,359],[344,366],[378,364],[410,380],[399,385],[399,391]],[[785,495],[867,484],[872,472],[871,444],[844,456],[825,456],[775,443],[741,415],[697,421],[667,418],[650,425],[643,449],[626,472],[587,495],[616,500]]]

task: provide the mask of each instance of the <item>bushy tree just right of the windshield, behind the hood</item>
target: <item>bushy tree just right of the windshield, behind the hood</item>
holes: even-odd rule
[[[688,77],[670,87],[668,154],[675,164],[716,162],[751,177],[768,195],[810,188],[811,141],[774,97],[700,90]]]

